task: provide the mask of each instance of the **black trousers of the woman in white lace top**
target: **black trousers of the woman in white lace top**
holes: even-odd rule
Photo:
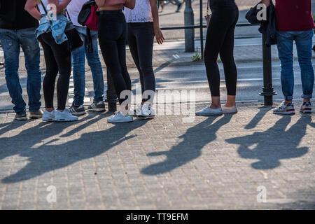
[[[155,76],[152,66],[153,42],[154,42],[153,22],[131,22],[128,23],[128,44],[132,58],[140,73],[140,83],[142,92],[142,102],[150,100],[153,103],[155,92]],[[151,90],[152,92],[146,92]],[[148,96],[144,96],[144,92]]]

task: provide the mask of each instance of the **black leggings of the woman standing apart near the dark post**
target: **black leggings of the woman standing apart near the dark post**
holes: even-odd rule
[[[219,53],[224,67],[228,95],[235,96],[237,67],[234,60],[234,31],[239,18],[239,10],[237,6],[212,6],[211,11],[204,50],[204,64],[211,96],[220,97],[220,71],[217,63]]]

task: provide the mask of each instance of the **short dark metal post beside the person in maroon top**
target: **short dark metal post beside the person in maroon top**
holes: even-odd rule
[[[262,34],[262,64],[264,87],[262,87],[261,96],[264,96],[265,106],[272,106],[272,96],[276,95],[272,86],[272,56],[271,48],[265,45],[266,36]]]

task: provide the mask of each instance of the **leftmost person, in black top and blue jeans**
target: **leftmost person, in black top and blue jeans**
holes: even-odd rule
[[[15,120],[27,120],[18,74],[20,48],[25,55],[30,118],[41,118],[40,48],[35,36],[38,21],[25,11],[26,0],[0,1],[0,42],[4,52],[6,85],[14,104]]]

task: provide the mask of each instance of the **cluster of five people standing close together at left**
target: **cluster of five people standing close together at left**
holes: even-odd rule
[[[22,87],[18,76],[20,48],[25,52],[29,118],[45,121],[75,121],[85,114],[85,57],[92,71],[94,102],[90,111],[105,111],[104,78],[99,59],[100,46],[106,67],[113,78],[120,111],[108,119],[109,123],[130,122],[134,116],[153,118],[155,75],[153,72],[154,38],[159,44],[165,41],[160,30],[157,0],[97,0],[98,31],[87,30],[78,23],[78,14],[86,0],[1,0],[0,41],[6,59],[6,81],[15,119],[27,120],[26,104],[22,99]],[[55,12],[53,11],[55,10]],[[50,20],[47,16],[55,13]],[[40,21],[38,24],[38,20]],[[83,40],[83,46],[68,48],[66,31],[75,28]],[[87,34],[90,32],[90,34]],[[88,50],[92,38],[92,51]],[[43,79],[45,110],[41,111],[41,43],[46,64]],[[130,111],[131,80],[126,65],[128,41],[134,62],[139,69],[142,92],[141,104]],[[14,49],[12,47],[14,45]],[[89,48],[90,49],[90,48]],[[66,109],[69,78],[73,68],[73,104]],[[57,74],[57,109],[53,105]]]

